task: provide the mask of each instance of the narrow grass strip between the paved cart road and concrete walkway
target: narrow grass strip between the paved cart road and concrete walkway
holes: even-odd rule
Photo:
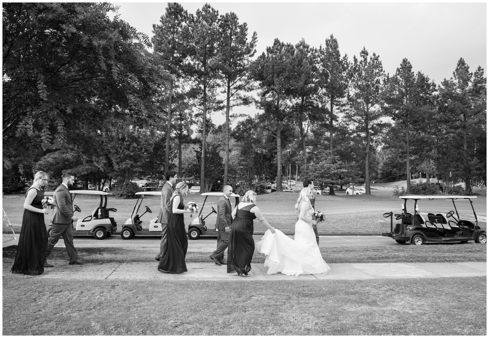
[[[17,246],[3,248],[3,258],[15,258]],[[88,263],[109,262],[154,262],[155,248],[78,248],[79,255]],[[327,263],[448,263],[485,262],[487,245],[439,244],[439,245],[394,245],[394,246],[345,246],[321,247]],[[49,259],[68,259],[65,248],[54,248]],[[186,262],[208,262],[208,252],[189,252]],[[265,255],[255,250],[253,264],[263,264]]]

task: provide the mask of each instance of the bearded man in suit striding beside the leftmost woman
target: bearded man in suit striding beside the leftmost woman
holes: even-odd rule
[[[62,179],[63,183],[54,190],[54,212],[51,218],[53,226],[49,233],[46,260],[44,260],[44,267],[47,268],[53,267],[52,264],[47,263],[47,256],[49,256],[61,236],[63,236],[69,255],[69,265],[81,265],[84,263],[83,260],[79,259],[78,253],[73,245],[72,223],[76,222],[78,217],[73,214],[73,200],[71,199],[68,187],[73,185],[75,177],[73,174],[67,172],[63,174]]]

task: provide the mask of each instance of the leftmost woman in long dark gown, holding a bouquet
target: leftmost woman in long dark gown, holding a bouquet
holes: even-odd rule
[[[38,171],[34,175],[34,183],[25,194],[21,234],[11,269],[14,274],[44,273],[48,240],[44,214],[48,214],[49,209],[43,209],[44,192],[41,188],[45,186],[48,178],[44,171]]]

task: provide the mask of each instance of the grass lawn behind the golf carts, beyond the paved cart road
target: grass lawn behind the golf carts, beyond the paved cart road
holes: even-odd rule
[[[280,229],[286,234],[293,234],[294,225],[297,221],[297,217],[294,211],[294,204],[297,200],[297,193],[288,192],[272,192],[268,194],[263,194],[258,196],[257,204],[263,211],[264,217],[267,219],[268,223],[272,226]],[[485,197],[481,197],[481,200],[475,202],[481,204],[485,202]],[[482,201],[484,200],[484,201]],[[22,204],[24,201],[23,195],[5,195],[2,198],[3,208],[7,213],[10,222],[13,224],[22,223],[23,208]],[[152,213],[146,213],[142,216],[143,227],[148,227],[151,219],[155,218],[159,211],[159,201],[158,196],[147,196],[144,198],[142,207],[139,214],[145,210],[144,206],[150,207],[153,211]],[[191,194],[185,197],[185,201],[193,201],[202,206],[204,201],[204,196],[200,194]],[[206,215],[211,211],[211,206],[216,208],[217,197],[209,197],[202,211],[202,215]],[[474,202],[474,203],[475,203]],[[77,195],[74,204],[78,205],[82,212],[75,212],[75,214],[80,217],[85,217],[89,215],[93,209],[98,205],[98,196],[93,195]],[[117,212],[111,212],[111,217],[114,217],[117,223],[117,230],[122,229],[122,225],[125,221],[131,217],[131,212],[133,211],[134,205],[136,203],[135,199],[121,199],[109,196],[108,207],[117,208]],[[430,202],[433,205],[437,205],[436,202]],[[446,203],[446,202],[445,202]],[[451,203],[451,202],[449,202]],[[375,195],[356,195],[356,196],[345,196],[345,195],[318,195],[316,196],[316,204],[323,210],[324,207],[327,208],[326,211],[326,221],[318,226],[318,232],[321,234],[329,233],[374,233],[380,234],[381,232],[390,232],[390,218],[384,218],[382,214],[387,211],[400,211],[400,200],[397,196],[375,196]],[[467,202],[468,204],[468,202]],[[392,210],[390,207],[395,205],[397,209]],[[485,204],[484,204],[485,206]],[[428,208],[428,206],[426,206]],[[437,207],[440,208],[440,207]],[[449,204],[447,208],[450,209]],[[319,209],[319,208],[318,208]],[[467,206],[461,208],[462,210],[467,209]],[[476,210],[480,211],[479,214],[479,226],[481,229],[486,230],[486,210],[481,210],[482,207],[476,206]],[[450,209],[451,210],[451,209]],[[468,209],[467,209],[468,210]],[[423,211],[430,212],[445,212],[448,210],[436,210],[429,209]],[[471,215],[468,211],[460,211],[461,216],[467,219],[473,219],[473,214]],[[46,226],[49,225],[49,216],[45,216]],[[185,218],[186,224],[190,223],[191,218],[187,215]],[[216,214],[213,213],[205,219],[206,225],[212,226],[216,222]],[[396,220],[394,220],[394,224]],[[2,230],[5,233],[11,233],[10,228],[5,226],[6,222],[3,222]],[[266,231],[265,226],[260,222],[255,221],[255,234],[263,234]],[[14,227],[14,230],[19,231],[20,227]]]

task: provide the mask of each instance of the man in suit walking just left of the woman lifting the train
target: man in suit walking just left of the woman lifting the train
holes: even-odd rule
[[[217,202],[217,249],[209,256],[217,265],[227,264],[223,261],[223,258],[224,250],[226,250],[229,245],[229,232],[231,231],[232,208],[229,196],[231,196],[232,192],[233,188],[231,186],[224,186],[222,189],[222,197]]]

